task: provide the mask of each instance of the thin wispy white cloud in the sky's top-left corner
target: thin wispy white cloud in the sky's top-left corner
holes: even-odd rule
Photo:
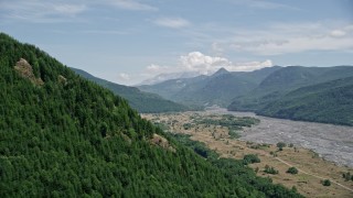
[[[137,0],[12,0],[0,1],[0,19],[21,20],[31,23],[74,22],[77,15],[97,6],[131,11],[157,11],[158,8]]]

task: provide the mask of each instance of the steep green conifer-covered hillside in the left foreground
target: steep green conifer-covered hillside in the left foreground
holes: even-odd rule
[[[35,46],[0,46],[0,197],[302,197],[196,155]]]

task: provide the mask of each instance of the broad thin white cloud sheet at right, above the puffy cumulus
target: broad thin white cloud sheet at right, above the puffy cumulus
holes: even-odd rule
[[[281,55],[309,51],[352,51],[350,25],[323,23],[277,24],[263,30],[238,30],[215,38],[227,51],[255,55]]]

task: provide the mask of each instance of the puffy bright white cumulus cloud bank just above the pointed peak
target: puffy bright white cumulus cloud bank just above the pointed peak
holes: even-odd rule
[[[119,80],[130,85],[131,82],[141,82],[141,80],[150,84],[171,78],[212,75],[222,67],[229,72],[252,72],[271,66],[274,66],[274,64],[269,59],[264,62],[232,63],[226,57],[208,56],[201,52],[191,52],[180,56],[176,63],[168,66],[151,64],[139,74],[133,73],[128,75],[121,73],[119,74]]]

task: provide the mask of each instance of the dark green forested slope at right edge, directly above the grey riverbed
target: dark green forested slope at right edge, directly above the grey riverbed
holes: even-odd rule
[[[257,113],[353,125],[353,76],[290,91]]]

